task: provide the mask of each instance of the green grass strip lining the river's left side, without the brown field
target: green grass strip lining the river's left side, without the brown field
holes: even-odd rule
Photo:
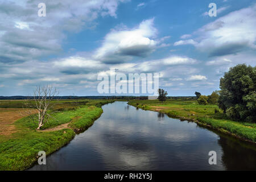
[[[96,101],[93,105],[80,107],[76,110],[64,111],[59,125],[48,125],[45,130],[35,130],[33,123],[27,117],[15,121],[19,132],[11,138],[0,138],[0,171],[23,171],[32,168],[38,161],[38,152],[45,151],[46,156],[53,154],[62,147],[67,146],[75,136],[89,129],[101,117],[102,106],[114,101]],[[79,116],[79,119],[75,119]],[[70,118],[71,122],[67,122]],[[65,128],[54,130],[54,127],[67,123]],[[66,125],[65,125],[66,126]]]

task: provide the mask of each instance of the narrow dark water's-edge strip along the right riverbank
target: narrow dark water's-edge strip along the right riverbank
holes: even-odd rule
[[[140,106],[140,105],[135,105],[135,104],[132,104],[131,102],[127,102],[128,105],[131,105],[131,106],[134,106],[134,107],[137,107],[139,109],[143,109],[143,110],[151,110],[151,111],[155,111],[155,112],[158,112],[158,113],[163,113],[163,114],[167,114],[168,117],[170,118],[174,118],[174,119],[180,119],[180,121],[190,121],[190,122],[195,122],[197,123],[197,125],[201,126],[201,127],[205,127],[205,128],[208,128],[208,129],[212,129],[214,131],[218,131],[222,134],[226,134],[226,135],[229,135],[229,136],[232,136],[234,138],[237,138],[237,139],[240,139],[244,142],[249,142],[251,144],[256,144],[256,142],[254,142],[253,140],[250,140],[250,139],[247,139],[247,138],[244,138],[244,137],[241,137],[240,135],[237,135],[237,134],[234,134],[234,133],[231,133],[230,131],[224,129],[224,128],[217,128],[217,127],[213,127],[212,125],[209,125],[209,123],[204,123],[204,122],[200,122],[198,119],[195,119],[195,118],[188,118],[188,117],[181,117],[180,115],[170,115],[166,112],[162,110],[159,110],[159,109],[152,109],[150,106],[148,105],[143,105],[143,106]]]

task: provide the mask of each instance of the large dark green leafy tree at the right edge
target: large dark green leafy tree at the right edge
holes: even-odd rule
[[[238,64],[220,79],[218,106],[228,117],[256,122],[256,67]]]

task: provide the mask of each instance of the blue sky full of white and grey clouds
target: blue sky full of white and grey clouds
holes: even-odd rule
[[[159,73],[169,96],[210,94],[230,67],[256,62],[252,0],[0,0],[0,17],[0,96],[46,84],[100,95],[97,76],[110,69]]]

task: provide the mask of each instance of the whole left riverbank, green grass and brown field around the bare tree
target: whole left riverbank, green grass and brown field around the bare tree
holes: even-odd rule
[[[23,170],[36,162],[39,151],[47,155],[63,147],[86,130],[102,114],[101,106],[111,100],[53,101],[57,113],[42,131],[30,117],[21,117],[22,101],[0,101],[0,170]],[[11,122],[5,116],[20,118]],[[8,117],[7,117],[8,118]],[[58,128],[58,126],[63,126]],[[11,130],[10,130],[11,128]],[[4,130],[5,129],[5,130]]]

